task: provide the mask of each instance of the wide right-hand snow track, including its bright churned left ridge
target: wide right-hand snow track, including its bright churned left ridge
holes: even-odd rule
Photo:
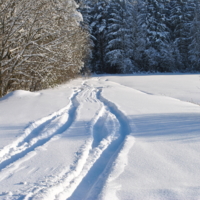
[[[24,199],[98,199],[125,138],[130,133],[130,127],[117,106],[103,98],[101,89],[86,84],[83,86],[85,88],[80,96],[84,96],[84,99],[90,96],[91,102],[101,105],[91,121],[91,138],[81,147],[75,164],[55,178],[55,184],[33,189],[34,192],[30,192]]]

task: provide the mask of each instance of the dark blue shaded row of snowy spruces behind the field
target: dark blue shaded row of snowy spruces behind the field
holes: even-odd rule
[[[200,71],[198,0],[78,0],[96,73]]]

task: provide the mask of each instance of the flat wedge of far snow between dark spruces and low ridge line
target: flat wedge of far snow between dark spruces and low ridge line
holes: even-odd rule
[[[135,88],[152,95],[162,95],[200,104],[200,75],[197,74],[143,74],[110,76],[110,81]]]

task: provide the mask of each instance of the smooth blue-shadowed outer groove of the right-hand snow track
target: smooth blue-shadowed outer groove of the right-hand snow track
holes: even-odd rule
[[[118,136],[115,136],[115,138],[111,141],[107,148],[102,151],[100,157],[90,168],[88,173],[82,179],[82,181],[77,186],[71,197],[68,198],[68,200],[98,199],[98,195],[103,189],[103,186],[110,173],[111,167],[123,147],[125,138],[127,135],[130,134],[131,129],[125,115],[117,108],[114,103],[103,98],[103,96],[101,95],[101,90],[97,92],[97,99],[103,103],[103,105],[112,115],[116,117],[119,123],[119,132],[117,133]]]

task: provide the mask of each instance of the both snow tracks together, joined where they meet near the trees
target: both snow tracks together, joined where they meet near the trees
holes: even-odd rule
[[[90,122],[91,137],[76,153],[70,168],[66,167],[56,176],[49,176],[49,180],[45,180],[49,184],[45,185],[41,182],[28,191],[21,191],[21,194],[16,194],[18,199],[98,199],[115,160],[123,149],[126,136],[131,131],[126,116],[101,93],[101,87],[95,88],[83,81],[80,89],[72,94],[67,107],[34,122],[17,141],[0,151],[0,158],[3,160],[0,162],[1,175],[8,166],[18,160],[26,160],[27,154],[33,153],[36,148],[47,143],[55,135],[63,133],[75,123],[77,112],[81,112],[81,109],[77,109],[80,104],[89,102],[100,105]],[[10,174],[10,170],[8,173]],[[0,181],[8,176],[5,174],[1,176]]]

